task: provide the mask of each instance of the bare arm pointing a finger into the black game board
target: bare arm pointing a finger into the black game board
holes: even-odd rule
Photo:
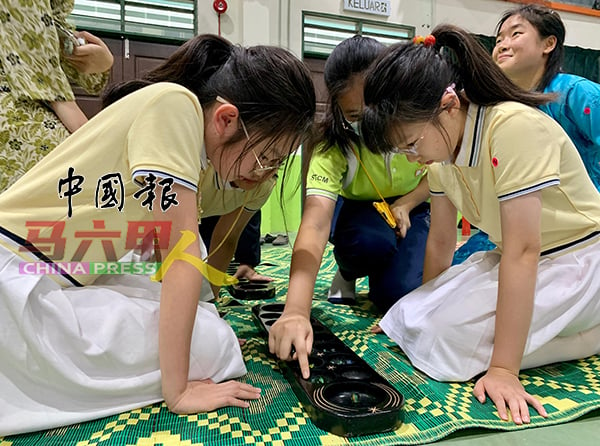
[[[295,347],[305,378],[310,375],[308,355],[313,339],[310,326],[312,298],[334,209],[335,201],[330,198],[314,195],[306,198],[292,253],[285,310],[269,334],[269,350],[278,357],[288,359],[292,345]]]

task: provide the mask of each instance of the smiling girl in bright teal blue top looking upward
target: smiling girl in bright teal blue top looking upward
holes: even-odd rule
[[[492,57],[519,87],[557,94],[540,109],[567,132],[600,190],[600,85],[561,72],[565,34],[556,11],[542,5],[521,5],[505,12],[498,22]],[[478,232],[460,247],[455,261],[493,247],[487,235]]]

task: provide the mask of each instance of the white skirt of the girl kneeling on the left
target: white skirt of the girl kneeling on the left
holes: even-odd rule
[[[161,401],[160,284],[105,276],[61,288],[19,274],[0,247],[0,436],[78,423]],[[200,302],[190,380],[246,373],[237,337],[214,305]]]

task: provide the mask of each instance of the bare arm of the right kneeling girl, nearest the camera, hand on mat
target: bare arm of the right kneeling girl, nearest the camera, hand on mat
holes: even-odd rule
[[[507,420],[507,406],[516,424],[529,422],[528,404],[541,415],[543,406],[525,392],[519,370],[527,342],[541,249],[541,192],[500,204],[502,258],[498,277],[498,303],[494,350],[487,373],[475,386],[475,396],[485,401],[487,393]]]

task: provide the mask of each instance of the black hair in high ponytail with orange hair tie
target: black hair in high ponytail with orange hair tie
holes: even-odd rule
[[[438,25],[431,34],[435,45],[396,44],[367,74],[361,130],[371,151],[393,150],[392,124],[431,121],[439,125],[440,101],[452,84],[479,105],[516,101],[539,106],[553,99],[513,84],[467,31]]]

